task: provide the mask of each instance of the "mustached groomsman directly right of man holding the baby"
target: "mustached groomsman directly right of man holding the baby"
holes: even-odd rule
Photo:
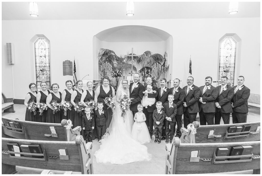
[[[156,102],[162,102],[162,106],[165,103],[168,103],[167,97],[169,94],[170,89],[166,87],[167,80],[166,78],[160,79],[160,88],[157,89],[157,101]],[[166,119],[164,119],[164,124],[166,124]],[[166,132],[165,132],[165,125],[163,125],[162,128],[162,140],[166,139]]]

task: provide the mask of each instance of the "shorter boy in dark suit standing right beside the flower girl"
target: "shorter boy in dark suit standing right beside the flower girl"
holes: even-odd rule
[[[155,143],[159,144],[161,143],[163,121],[165,119],[165,113],[161,107],[162,102],[156,102],[156,109],[153,112]]]

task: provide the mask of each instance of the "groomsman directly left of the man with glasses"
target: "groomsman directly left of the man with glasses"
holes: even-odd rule
[[[176,128],[177,123],[177,131],[175,137],[181,137],[181,127],[182,127],[182,115],[183,115],[183,102],[185,99],[185,91],[179,87],[180,79],[176,78],[174,79],[174,87],[170,89],[170,94],[174,95],[173,103],[177,105],[177,114],[176,114],[176,122],[174,125],[174,131]]]

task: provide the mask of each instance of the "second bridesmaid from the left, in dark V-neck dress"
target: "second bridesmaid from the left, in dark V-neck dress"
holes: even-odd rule
[[[41,89],[36,95],[36,103],[45,103],[46,104],[46,97],[50,94],[50,91],[47,90],[47,83],[42,81],[40,83]],[[46,122],[47,110],[43,111],[42,115],[38,111],[36,114],[37,122]]]

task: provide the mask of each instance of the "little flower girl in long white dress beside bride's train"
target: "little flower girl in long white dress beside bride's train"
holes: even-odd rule
[[[131,136],[134,140],[138,141],[141,144],[149,143],[151,142],[151,138],[148,132],[148,127],[146,126],[146,116],[142,112],[143,105],[138,104],[137,105],[138,112],[135,113],[134,117],[134,124],[132,127]]]

